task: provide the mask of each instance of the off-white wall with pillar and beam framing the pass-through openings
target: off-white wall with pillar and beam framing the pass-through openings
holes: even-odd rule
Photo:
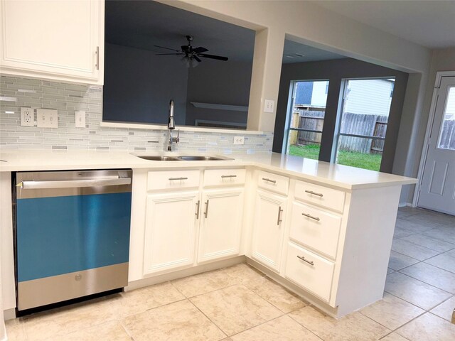
[[[274,129],[276,113],[264,113],[263,103],[264,99],[277,102],[284,38],[410,72],[394,173],[408,176],[417,174],[414,154],[422,151],[423,144],[420,134],[422,105],[431,60],[428,48],[307,1],[159,1],[257,31],[248,129]],[[414,146],[417,146],[417,150]],[[410,186],[405,187],[405,192],[410,190]],[[407,197],[407,194],[403,193],[402,197]]]

